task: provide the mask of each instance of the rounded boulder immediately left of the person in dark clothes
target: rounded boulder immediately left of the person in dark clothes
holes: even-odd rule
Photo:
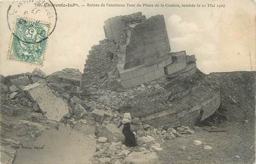
[[[106,124],[98,129],[97,137],[106,137],[108,142],[124,142],[124,134],[122,130],[114,124]]]

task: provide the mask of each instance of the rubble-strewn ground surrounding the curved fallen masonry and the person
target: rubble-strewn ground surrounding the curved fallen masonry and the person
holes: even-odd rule
[[[255,72],[214,73],[203,80],[198,74],[183,80],[183,87],[173,88],[173,93],[191,91],[188,85],[203,82],[207,85],[199,91],[221,88],[219,110],[193,127],[154,128],[133,118],[134,148],[122,144],[122,127],[116,127],[120,108],[124,100],[130,103],[144,93],[168,99],[168,94],[158,94],[165,89],[163,80],[130,90],[88,88],[82,93],[80,77],[76,69],[49,76],[40,69],[1,76],[1,163],[255,162]]]

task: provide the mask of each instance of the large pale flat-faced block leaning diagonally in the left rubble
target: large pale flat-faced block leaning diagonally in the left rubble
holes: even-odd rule
[[[45,84],[26,86],[25,91],[30,99],[39,105],[40,110],[48,119],[60,121],[68,113],[68,105],[62,98],[56,97]]]

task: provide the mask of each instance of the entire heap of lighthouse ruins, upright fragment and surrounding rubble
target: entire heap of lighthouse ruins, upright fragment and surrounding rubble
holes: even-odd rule
[[[116,25],[114,31],[110,24]],[[104,30],[107,39],[92,46],[83,74],[66,68],[47,76],[36,68],[31,73],[1,75],[1,145],[5,148],[1,149],[1,162],[12,163],[15,146],[37,140],[45,131],[52,131],[58,138],[64,128],[65,134],[75,131],[73,134],[79,139],[86,136],[93,140],[91,147],[96,150],[92,163],[157,164],[157,152],[163,150],[164,140],[193,135],[192,127],[215,116],[218,109],[235,117],[229,112],[232,110],[223,110],[228,108],[226,104],[247,107],[237,100],[242,89],[228,95],[230,88],[221,87],[225,81],[219,78],[222,76],[200,72],[193,55],[188,56],[185,51],[169,53],[163,15],[145,19],[138,12],[114,17],[106,20]],[[159,30],[160,37],[147,37]],[[152,44],[157,48],[152,49]],[[145,51],[149,46],[150,52]],[[253,81],[251,76],[242,74],[235,79],[240,84],[234,86],[245,83],[242,77]],[[233,83],[230,77],[225,78]],[[244,95],[255,95],[252,92]],[[126,147],[122,126],[117,127],[126,112],[132,116],[130,126],[137,147]]]

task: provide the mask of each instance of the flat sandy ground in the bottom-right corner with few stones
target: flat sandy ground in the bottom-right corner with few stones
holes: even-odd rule
[[[249,123],[226,122],[219,128],[226,132],[208,132],[206,129],[209,127],[199,127],[193,135],[165,140],[163,150],[158,152],[161,163],[255,163],[254,120]],[[203,143],[194,145],[194,140]],[[213,149],[204,150],[204,145]]]

